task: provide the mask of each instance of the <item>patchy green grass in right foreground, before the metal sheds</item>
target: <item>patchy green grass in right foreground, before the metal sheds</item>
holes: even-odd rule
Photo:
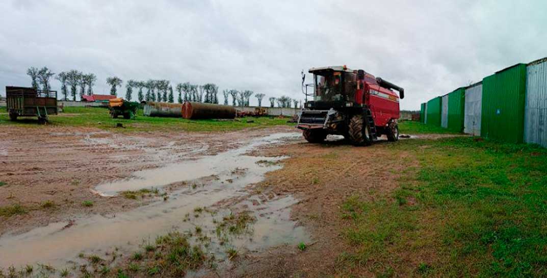
[[[356,248],[340,254],[341,273],[547,276],[546,149],[453,137],[392,146],[401,151],[418,165],[397,189],[342,206]]]

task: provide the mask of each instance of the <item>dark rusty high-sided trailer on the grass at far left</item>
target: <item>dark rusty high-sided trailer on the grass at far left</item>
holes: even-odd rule
[[[29,87],[5,86],[6,107],[10,120],[18,117],[38,117],[40,123],[57,114],[57,91]]]

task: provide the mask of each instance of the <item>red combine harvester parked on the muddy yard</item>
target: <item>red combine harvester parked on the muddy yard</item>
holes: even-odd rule
[[[311,68],[313,101],[306,101],[297,128],[310,143],[320,143],[328,134],[343,135],[356,146],[368,146],[385,134],[399,139],[399,92],[404,90],[380,77],[346,66]],[[302,86],[305,76],[302,74]],[[307,88],[307,87],[306,87]]]

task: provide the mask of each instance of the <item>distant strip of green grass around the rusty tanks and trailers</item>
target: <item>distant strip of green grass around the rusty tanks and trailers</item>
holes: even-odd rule
[[[0,125],[26,126],[39,128],[34,118],[21,118],[20,121],[10,121],[5,108],[0,111]],[[247,123],[247,120],[253,123]],[[115,128],[121,123],[125,128]],[[230,131],[246,128],[266,128],[275,125],[294,125],[287,123],[287,118],[260,117],[238,118],[236,120],[187,120],[183,118],[158,118],[145,117],[142,109],[138,112],[137,119],[112,119],[108,109],[101,107],[65,107],[63,113],[50,115],[49,124],[55,126],[85,126],[110,131]]]

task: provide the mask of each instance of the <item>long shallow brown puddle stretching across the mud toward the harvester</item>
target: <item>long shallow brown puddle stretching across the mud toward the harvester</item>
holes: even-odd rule
[[[115,195],[123,190],[157,188],[181,181],[195,186],[178,189],[166,201],[153,202],[132,211],[51,223],[19,235],[4,234],[0,238],[0,267],[21,267],[34,263],[54,267],[80,265],[85,263],[78,256],[80,253],[104,255],[116,248],[119,253],[130,254],[138,250],[143,240],[154,241],[156,236],[169,231],[191,232],[197,225],[211,234],[208,251],[217,253],[221,261],[224,248],[230,245],[253,251],[305,241],[304,230],[296,227],[296,223],[289,218],[289,206],[296,200],[285,196],[260,201],[258,196],[248,196],[246,189],[248,184],[260,182],[266,172],[280,169],[282,166],[277,161],[283,158],[245,154],[259,146],[281,142],[293,136],[300,134],[270,135],[218,155],[139,171],[129,179],[100,184],[96,189],[104,195]],[[211,175],[215,178],[201,178]],[[238,196],[248,196],[232,206],[248,208],[252,213],[256,219],[252,233],[235,236],[228,245],[220,244],[219,241],[225,239],[219,239],[213,233],[215,222],[218,223],[219,217],[229,215],[231,208],[214,208],[214,205]],[[197,208],[203,207],[210,207],[214,213],[197,215]]]

